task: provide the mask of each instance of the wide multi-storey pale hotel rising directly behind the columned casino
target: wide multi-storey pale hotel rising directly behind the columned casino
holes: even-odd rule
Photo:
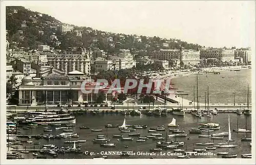
[[[88,54],[47,54],[49,65],[69,73],[78,70],[84,74],[91,73],[91,60]]]

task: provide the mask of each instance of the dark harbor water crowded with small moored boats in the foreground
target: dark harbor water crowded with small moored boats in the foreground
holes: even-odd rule
[[[246,129],[251,130],[251,116],[248,115],[238,115],[236,113],[224,113],[212,115],[211,118],[204,116],[203,118],[198,118],[193,114],[186,113],[184,116],[167,114],[167,116],[147,116],[145,114],[140,114],[138,116],[122,115],[122,114],[88,114],[88,115],[75,115],[76,124],[72,124],[69,129],[69,136],[61,136],[66,134],[63,129],[58,129],[61,127],[66,127],[67,125],[37,125],[36,128],[23,129],[27,127],[28,124],[18,124],[16,129],[20,132],[17,134],[16,142],[9,145],[9,151],[29,151],[29,153],[19,153],[23,158],[36,158],[37,153],[38,158],[40,156],[45,156],[43,158],[94,158],[96,156],[106,156],[107,158],[123,158],[123,155],[104,155],[100,152],[102,151],[119,151],[119,152],[172,152],[174,150],[180,149],[181,151],[194,151],[205,148],[210,148],[215,145],[216,149],[208,150],[205,152],[211,152],[213,155],[198,156],[199,158],[221,158],[221,155],[217,155],[218,152],[229,152],[236,153],[241,157],[242,154],[251,153],[250,141],[243,141],[243,137],[251,137],[250,132],[234,132],[231,131],[231,139],[229,144],[236,145],[234,148],[222,148],[217,147],[220,143],[227,143],[229,136],[224,134],[220,139],[214,139],[212,135],[221,132],[228,131],[228,117],[230,118],[230,129],[233,130],[237,128],[237,120],[241,123],[241,128],[246,120]],[[102,120],[103,119],[103,120]],[[125,119],[125,121],[123,121]],[[169,127],[175,119],[175,127]],[[206,131],[200,133],[191,133],[191,130],[195,128],[200,129],[200,123],[218,123],[219,129],[212,129],[213,131]],[[125,125],[124,125],[125,123]],[[170,125],[169,125],[170,124]],[[113,126],[113,127],[112,127]],[[45,132],[45,127],[52,129],[50,132]],[[125,128],[124,128],[125,127]],[[160,129],[161,128],[161,129]],[[212,127],[213,128],[213,127]],[[13,128],[15,130],[15,127]],[[211,128],[208,128],[211,130]],[[93,131],[95,130],[95,131]],[[127,131],[123,131],[127,130]],[[151,132],[155,130],[154,132]],[[182,131],[182,133],[178,130]],[[207,130],[207,129],[206,129]],[[177,132],[175,132],[177,131]],[[15,132],[15,131],[14,131]],[[72,136],[76,134],[78,136]],[[173,134],[174,136],[172,136]],[[179,136],[178,134],[186,134],[184,136]],[[199,135],[207,135],[209,137],[200,137]],[[119,136],[118,136],[119,135]],[[170,136],[171,135],[171,136]],[[10,137],[14,137],[14,134],[9,134]],[[67,134],[66,134],[67,136]],[[10,138],[10,137],[7,137]],[[83,140],[83,143],[79,143],[79,140]],[[199,143],[208,142],[209,145],[198,145]],[[67,142],[67,143],[66,143]],[[98,143],[96,143],[98,142]],[[167,143],[166,143],[167,142]],[[182,145],[177,145],[177,142]],[[35,145],[35,143],[37,145]],[[39,144],[38,144],[39,143]],[[162,144],[159,145],[158,143]],[[166,143],[166,144],[165,144]],[[7,143],[8,144],[8,143]],[[105,146],[103,144],[110,144]],[[75,145],[75,147],[74,147]],[[168,146],[168,147],[167,147]],[[50,148],[49,148],[50,147]],[[75,148],[72,152],[72,149]],[[159,151],[157,151],[159,150]],[[49,152],[55,152],[56,154],[49,154]],[[179,151],[179,150],[177,150]],[[199,151],[199,152],[200,152]],[[202,150],[204,151],[204,150]],[[94,152],[97,155],[90,155],[86,153]],[[181,152],[184,155],[184,152]],[[177,152],[180,153],[180,152]],[[195,155],[190,156],[191,158],[197,157]],[[125,158],[141,158],[139,155],[126,155]],[[156,154],[144,155],[142,158],[179,158],[176,155],[173,156],[163,156]]]

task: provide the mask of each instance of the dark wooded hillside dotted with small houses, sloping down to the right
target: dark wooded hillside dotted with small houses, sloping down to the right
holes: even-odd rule
[[[55,49],[67,49],[68,47],[91,47],[104,50],[108,53],[116,53],[119,49],[130,49],[132,53],[138,50],[153,51],[158,49],[179,49],[180,45],[185,49],[198,49],[198,44],[187,43],[177,39],[161,39],[159,37],[141,37],[141,42],[135,42],[136,35],[115,34],[94,30],[90,27],[74,26],[73,32],[61,34],[57,26],[62,22],[47,15],[33,12],[24,7],[6,7],[6,30],[10,48],[37,49],[38,45],[47,44]],[[75,31],[81,32],[77,35]],[[55,35],[57,39],[51,39]],[[113,37],[113,41],[107,40]],[[97,42],[93,42],[97,39]],[[168,42],[168,46],[163,46]],[[60,43],[60,44],[57,44]],[[139,54],[146,55],[145,51]]]

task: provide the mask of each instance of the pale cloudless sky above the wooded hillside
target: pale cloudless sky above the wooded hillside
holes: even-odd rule
[[[254,1],[15,2],[63,23],[212,47],[255,45]]]

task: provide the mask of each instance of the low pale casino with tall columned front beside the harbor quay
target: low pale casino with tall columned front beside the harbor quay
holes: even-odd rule
[[[66,74],[55,68],[44,70],[40,73],[40,78],[26,76],[22,79],[22,85],[18,88],[19,105],[42,105],[42,104],[82,104],[94,102],[97,94],[82,93],[81,85],[83,81],[87,84],[86,90],[95,90],[95,83],[91,82],[91,77],[79,71],[72,71]],[[104,102],[108,102],[115,95],[105,92]]]

